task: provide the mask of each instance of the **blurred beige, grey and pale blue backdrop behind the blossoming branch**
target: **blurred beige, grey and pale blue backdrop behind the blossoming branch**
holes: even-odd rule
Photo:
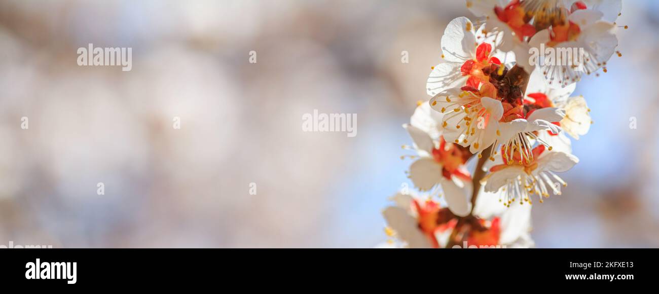
[[[463,2],[0,0],[0,245],[382,243],[401,124]],[[618,24],[538,247],[659,247],[659,2],[623,1]],[[132,71],[78,66],[90,43],[132,47]],[[302,132],[314,109],[357,113],[357,136]]]

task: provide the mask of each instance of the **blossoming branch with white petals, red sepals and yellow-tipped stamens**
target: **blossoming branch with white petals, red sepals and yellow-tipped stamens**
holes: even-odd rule
[[[432,98],[418,103],[403,125],[418,154],[408,177],[430,194],[422,200],[404,191],[392,198],[396,205],[383,212],[391,225],[386,232],[401,243],[388,240],[390,245],[533,247],[532,198],[542,202],[561,194],[567,183],[556,173],[579,162],[565,134],[578,139],[592,121],[585,99],[571,94],[583,74],[606,72],[617,46],[620,0],[592,7],[586,1],[478,2],[468,0],[467,8],[486,23],[477,27],[461,16],[447,24],[443,62],[431,68],[426,82]],[[544,48],[575,46],[584,57],[579,65],[538,56]],[[466,165],[474,157],[470,175]],[[486,160],[497,159],[484,170]],[[478,201],[482,185],[509,209],[500,212],[490,199]],[[433,196],[442,196],[446,206]]]

